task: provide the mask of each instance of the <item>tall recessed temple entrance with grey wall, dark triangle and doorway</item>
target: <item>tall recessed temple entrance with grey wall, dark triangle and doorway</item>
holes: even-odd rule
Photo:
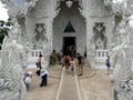
[[[59,8],[61,10],[53,19],[52,49],[73,57],[76,52],[83,56],[86,48],[86,23],[79,11],[79,2],[73,1],[72,7],[68,8],[65,1],[61,1]],[[74,53],[70,53],[71,46]],[[70,50],[65,51],[66,47]]]

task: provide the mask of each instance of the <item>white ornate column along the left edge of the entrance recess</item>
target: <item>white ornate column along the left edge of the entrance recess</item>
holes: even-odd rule
[[[60,6],[60,1],[55,0],[50,0],[51,3],[51,10],[50,14],[48,16],[47,22],[45,22],[45,32],[47,32],[47,38],[48,42],[44,43],[43,46],[43,54],[44,54],[44,66],[45,68],[49,67],[49,60],[50,60],[50,54],[53,50],[52,48],[52,41],[53,41],[53,20],[58,16],[60,9],[57,9]]]

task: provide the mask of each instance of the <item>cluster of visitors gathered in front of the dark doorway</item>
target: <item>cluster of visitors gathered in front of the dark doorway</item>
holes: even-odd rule
[[[83,64],[84,64],[84,57],[80,53],[76,54],[78,60],[78,73],[79,76],[83,74]],[[50,56],[50,64],[54,66],[55,63],[62,64],[62,67],[65,67],[65,72],[69,73],[70,71],[74,72],[74,66],[75,61],[74,58],[69,53],[62,53],[62,50],[60,50],[58,53],[55,50]]]

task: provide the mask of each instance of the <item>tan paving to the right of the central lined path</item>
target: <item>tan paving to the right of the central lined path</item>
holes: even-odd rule
[[[105,69],[95,70],[89,78],[79,78],[79,84],[82,100],[112,100],[112,83]]]

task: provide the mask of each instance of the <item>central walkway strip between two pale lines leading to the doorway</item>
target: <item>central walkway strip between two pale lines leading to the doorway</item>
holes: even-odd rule
[[[80,100],[78,77],[62,71],[57,100]]]

